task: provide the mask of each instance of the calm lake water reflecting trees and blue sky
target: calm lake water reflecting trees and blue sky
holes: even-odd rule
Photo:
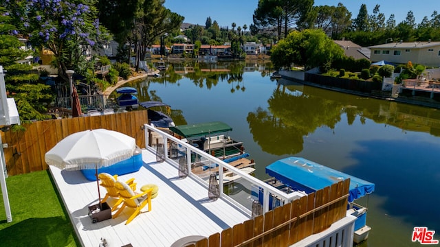
[[[440,239],[439,110],[277,83],[269,63],[169,66],[163,78],[131,84],[140,100],[169,104],[177,125],[229,124],[257,178],[280,158],[302,156],[375,183],[361,246],[420,246],[411,242],[415,226]]]

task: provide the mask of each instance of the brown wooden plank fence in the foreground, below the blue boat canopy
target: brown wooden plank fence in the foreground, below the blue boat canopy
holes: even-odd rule
[[[188,246],[291,246],[346,217],[349,186],[341,181]]]

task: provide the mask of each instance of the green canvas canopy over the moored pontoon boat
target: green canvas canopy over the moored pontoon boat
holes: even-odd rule
[[[215,134],[220,132],[228,132],[232,130],[231,126],[221,121],[214,121],[201,124],[187,124],[183,126],[170,127],[170,130],[182,137],[200,137],[207,134]]]

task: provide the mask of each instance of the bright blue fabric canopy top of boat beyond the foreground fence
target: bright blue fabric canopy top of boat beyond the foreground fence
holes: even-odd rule
[[[318,191],[350,178],[349,202],[373,193],[375,185],[366,180],[344,174],[305,158],[289,157],[268,165],[266,173],[292,188],[306,193]]]

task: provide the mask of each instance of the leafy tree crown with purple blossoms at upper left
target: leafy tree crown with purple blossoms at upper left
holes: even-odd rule
[[[32,45],[52,51],[58,73],[87,69],[89,51],[109,39],[98,20],[96,0],[1,0],[19,33]]]

